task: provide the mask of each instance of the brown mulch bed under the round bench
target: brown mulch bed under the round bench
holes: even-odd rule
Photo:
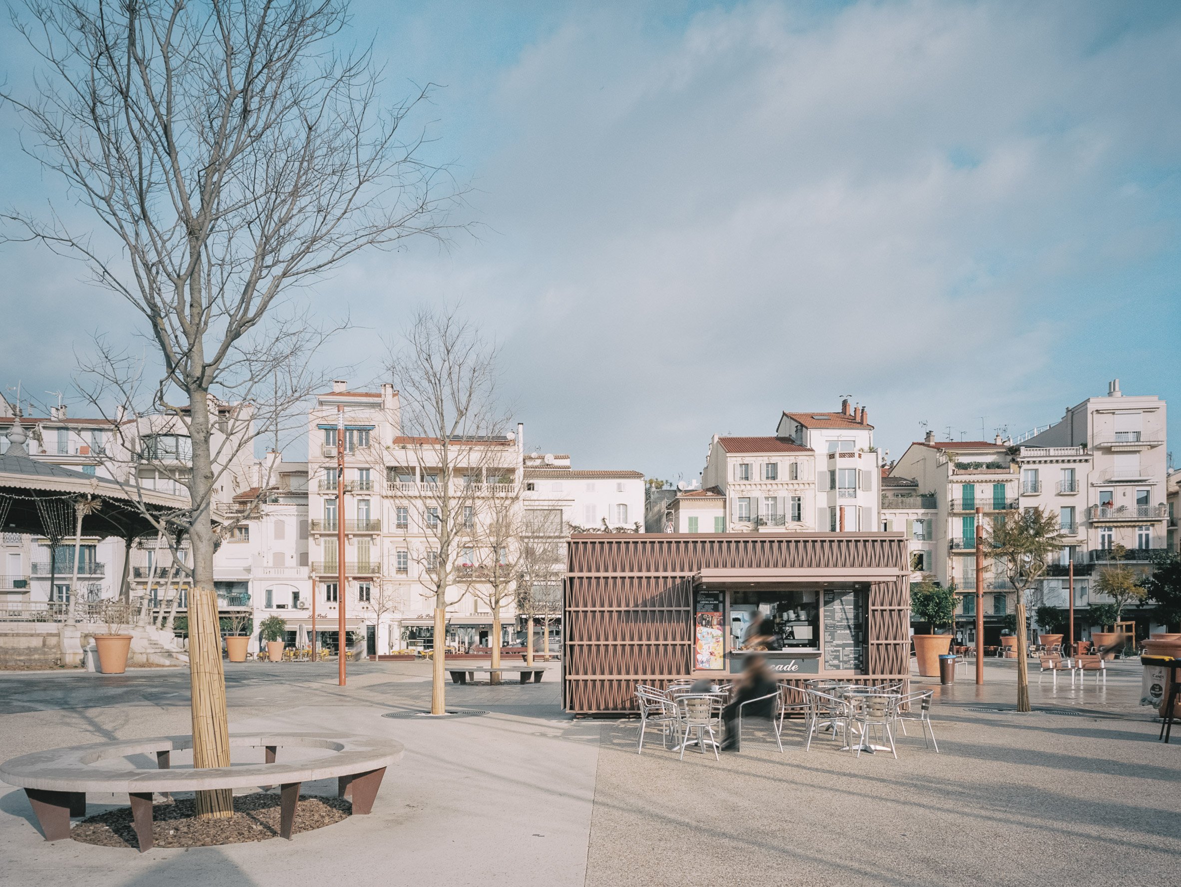
[[[213,847],[223,843],[267,841],[279,837],[280,799],[260,793],[234,799],[234,816],[198,820],[193,799],[152,804],[152,841],[156,847]],[[311,832],[347,819],[352,802],[341,797],[300,795],[292,834]],[[122,807],[89,816],[70,832],[81,843],[99,847],[139,847],[131,808]]]

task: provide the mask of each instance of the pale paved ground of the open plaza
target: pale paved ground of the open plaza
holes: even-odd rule
[[[638,722],[573,720],[556,669],[540,685],[448,686],[463,720],[386,718],[429,698],[429,665],[227,666],[231,728],[344,730],[403,742],[373,813],[261,843],[190,850],[47,843],[25,795],[0,786],[0,872],[37,885],[1174,885],[1181,882],[1181,741],[1156,742],[1140,664],[1071,688],[1035,668],[1029,715],[1011,662],[986,684],[937,684],[935,755],[920,738],[854,758],[804,751],[788,727],[742,754],[654,740]],[[919,684],[929,684],[916,679]],[[0,754],[187,732],[188,674],[0,675]],[[997,711],[996,709],[1003,709]],[[1181,736],[1177,737],[1181,740]],[[311,793],[335,786],[312,783]],[[106,809],[91,797],[89,813]]]

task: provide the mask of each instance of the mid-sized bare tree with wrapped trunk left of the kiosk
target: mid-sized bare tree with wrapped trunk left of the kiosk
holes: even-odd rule
[[[496,349],[454,309],[419,310],[391,350],[389,369],[404,435],[394,439],[391,456],[419,478],[428,541],[412,557],[435,603],[431,714],[442,715],[446,612],[466,592],[458,582],[464,540],[481,505],[485,469],[500,469],[513,439],[497,408]]]

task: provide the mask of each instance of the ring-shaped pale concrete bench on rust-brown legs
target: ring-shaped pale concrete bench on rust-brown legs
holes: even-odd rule
[[[157,736],[34,751],[0,764],[0,778],[25,789],[46,841],[70,836],[70,817],[86,815],[87,791],[126,791],[143,852],[152,846],[154,793],[280,786],[280,834],[291,840],[301,783],[337,778],[338,797],[351,795],[353,813],[366,814],[373,808],[385,768],[398,762],[403,753],[402,743],[392,740],[320,732],[231,734],[229,744],[231,749],[262,749],[265,763],[172,770],[171,754],[191,749],[193,737]],[[329,754],[279,762],[280,749],[292,748],[322,749]],[[129,766],[105,770],[93,766],[130,755],[155,755],[156,769]]]

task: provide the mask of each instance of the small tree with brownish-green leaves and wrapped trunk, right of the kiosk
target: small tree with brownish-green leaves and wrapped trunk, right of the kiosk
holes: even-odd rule
[[[1003,515],[985,527],[985,544],[1004,564],[1005,578],[1017,596],[1017,710],[1030,710],[1027,619],[1025,599],[1030,587],[1043,576],[1050,560],[1062,550],[1058,517],[1037,507],[1025,508],[1006,520]]]

